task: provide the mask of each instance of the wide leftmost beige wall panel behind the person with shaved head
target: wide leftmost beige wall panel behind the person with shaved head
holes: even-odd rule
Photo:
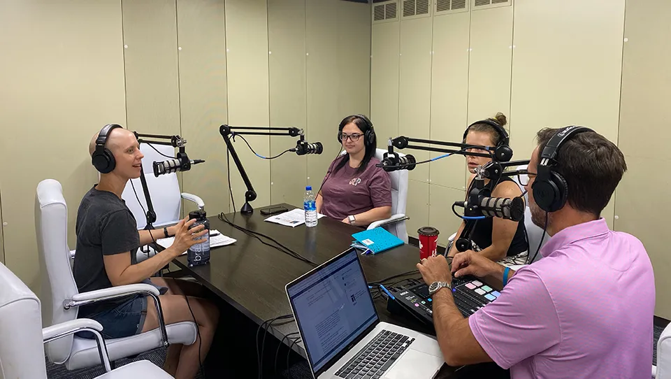
[[[87,145],[104,124],[126,120],[120,1],[1,1],[0,142],[5,263],[39,293],[34,199],[59,180],[68,203],[68,244],[82,196],[97,174]],[[82,32],[86,31],[86,32]],[[27,48],[28,47],[28,48]],[[48,64],[45,64],[48,57]],[[56,142],[57,141],[57,142]]]

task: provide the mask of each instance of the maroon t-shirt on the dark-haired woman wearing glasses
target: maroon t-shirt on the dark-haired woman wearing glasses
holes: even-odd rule
[[[371,158],[366,169],[358,173],[349,162],[335,173],[333,168],[340,159],[331,162],[322,182],[322,209],[319,213],[335,220],[358,215],[380,206],[391,206],[391,179],[389,173],[376,167],[380,160]]]

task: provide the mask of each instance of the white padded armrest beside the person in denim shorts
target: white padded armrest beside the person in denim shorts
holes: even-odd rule
[[[65,299],[63,301],[63,308],[70,309],[74,306],[85,306],[92,303],[98,303],[100,301],[118,299],[120,297],[133,295],[133,294],[144,294],[150,296],[154,301],[154,306],[156,306],[158,319],[159,319],[159,329],[161,329],[161,336],[163,337],[164,346],[168,346],[168,332],[166,331],[166,322],[163,317],[163,309],[161,308],[161,301],[159,301],[159,289],[153,285],[148,285],[145,283],[138,283],[132,285],[119,285],[116,287],[96,289],[95,291],[82,292],[80,294],[75,294],[72,296],[72,299]]]

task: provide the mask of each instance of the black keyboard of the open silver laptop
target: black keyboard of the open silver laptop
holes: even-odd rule
[[[349,359],[336,376],[346,379],[378,379],[391,367],[414,338],[383,330],[359,354]]]

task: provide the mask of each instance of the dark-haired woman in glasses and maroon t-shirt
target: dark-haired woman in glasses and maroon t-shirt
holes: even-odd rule
[[[317,212],[361,227],[391,217],[391,180],[375,166],[380,160],[373,123],[365,115],[345,117],[338,141],[346,154],[331,162],[317,194]]]

